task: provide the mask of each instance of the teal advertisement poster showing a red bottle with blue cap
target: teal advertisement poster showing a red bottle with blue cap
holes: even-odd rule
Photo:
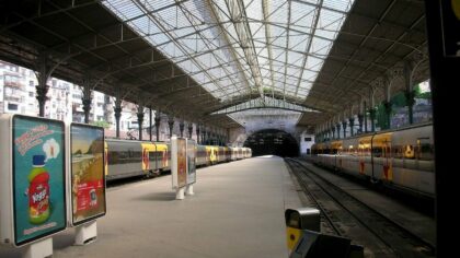
[[[66,228],[64,122],[13,117],[13,212],[16,246]]]

